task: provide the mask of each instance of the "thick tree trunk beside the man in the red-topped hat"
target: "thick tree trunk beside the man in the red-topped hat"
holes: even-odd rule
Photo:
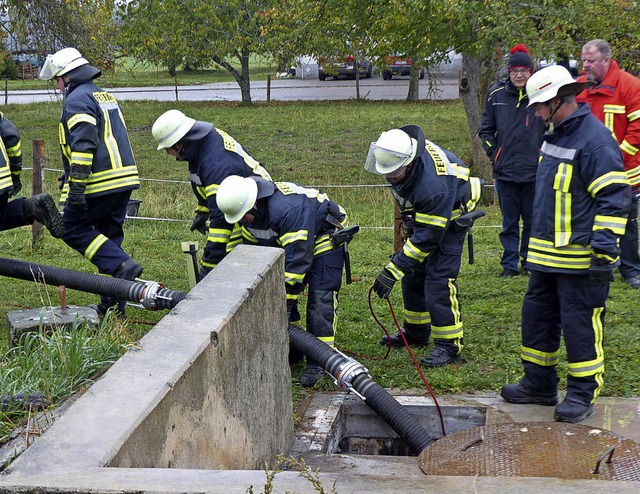
[[[467,115],[467,124],[471,134],[472,142],[472,164],[476,167],[478,176],[487,183],[492,183],[491,161],[482,148],[478,129],[482,112],[480,87],[481,87],[482,64],[478,57],[471,57],[462,54],[462,70],[458,81],[460,96],[464,104],[464,111]]]

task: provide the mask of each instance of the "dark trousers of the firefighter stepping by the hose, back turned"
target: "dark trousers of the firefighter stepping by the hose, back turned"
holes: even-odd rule
[[[102,274],[113,274],[129,255],[120,247],[131,191],[100,197],[86,196],[87,209],[64,209],[65,243],[98,267]]]

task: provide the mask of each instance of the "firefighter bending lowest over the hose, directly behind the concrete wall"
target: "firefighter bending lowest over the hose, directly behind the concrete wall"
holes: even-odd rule
[[[298,299],[308,286],[307,331],[333,347],[344,246],[331,235],[347,226],[344,209],[316,189],[256,176],[225,178],[217,203],[227,222],[242,225],[245,243],[284,249],[289,322],[299,322]],[[323,375],[307,359],[300,383],[311,387]]]

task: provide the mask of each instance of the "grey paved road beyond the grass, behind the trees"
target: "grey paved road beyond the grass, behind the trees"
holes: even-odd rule
[[[430,88],[430,84],[433,86]],[[360,80],[360,97],[370,100],[402,100],[407,97],[409,78],[401,77],[385,81],[380,76]],[[241,101],[240,89],[235,82],[203,84],[199,86],[131,87],[109,91],[120,101]],[[251,83],[253,101],[267,100],[267,82]],[[436,76],[420,81],[420,99],[455,99],[458,97],[458,81],[452,74]],[[0,98],[2,95],[0,94]],[[275,79],[271,81],[272,101],[342,100],[356,98],[355,80]],[[59,101],[57,91],[9,91],[4,95],[5,103],[24,104]]]

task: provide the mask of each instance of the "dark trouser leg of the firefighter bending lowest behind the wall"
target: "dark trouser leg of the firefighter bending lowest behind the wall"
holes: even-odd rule
[[[307,331],[329,346],[334,346],[338,292],[342,285],[343,250],[330,250],[315,256],[306,281]]]

